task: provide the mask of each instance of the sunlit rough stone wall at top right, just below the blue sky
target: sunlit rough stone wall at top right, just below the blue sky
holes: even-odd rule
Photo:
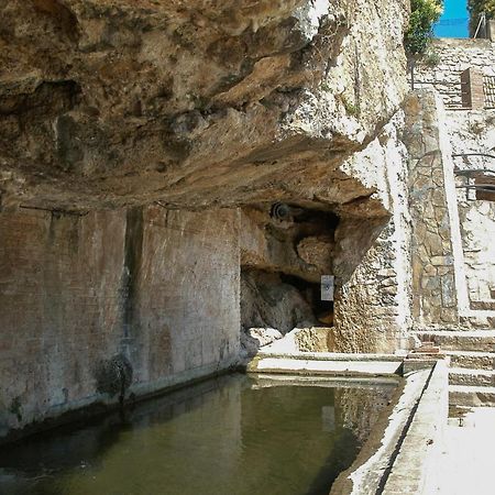
[[[415,69],[415,86],[436,89],[447,107],[462,107],[461,73],[468,68],[495,76],[495,50],[490,40],[435,40],[431,54]]]

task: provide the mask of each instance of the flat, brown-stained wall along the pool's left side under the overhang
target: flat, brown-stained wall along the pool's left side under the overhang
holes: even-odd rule
[[[146,394],[239,352],[239,213],[0,215],[0,437],[94,404],[99,370]],[[100,391],[100,392],[98,392]]]

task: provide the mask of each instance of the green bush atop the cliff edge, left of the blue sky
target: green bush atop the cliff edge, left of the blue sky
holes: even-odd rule
[[[433,36],[433,24],[443,12],[443,0],[411,0],[410,8],[409,26],[404,36],[404,46],[409,56],[417,56],[428,48]]]

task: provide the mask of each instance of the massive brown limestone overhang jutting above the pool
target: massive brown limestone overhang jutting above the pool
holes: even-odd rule
[[[3,207],[353,212],[373,190],[339,166],[403,99],[407,3],[2,2]]]

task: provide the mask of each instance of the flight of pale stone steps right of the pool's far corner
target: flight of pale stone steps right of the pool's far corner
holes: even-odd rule
[[[418,331],[450,358],[450,406],[495,406],[495,330]]]

